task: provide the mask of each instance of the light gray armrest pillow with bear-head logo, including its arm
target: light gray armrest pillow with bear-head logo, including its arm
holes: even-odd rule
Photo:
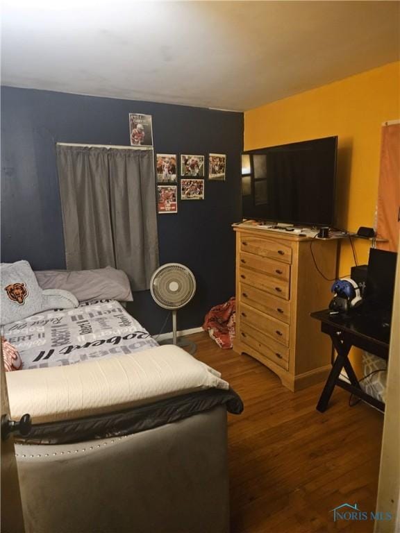
[[[1,325],[26,319],[49,309],[72,309],[79,302],[67,291],[43,291],[28,261],[3,263],[1,280]]]

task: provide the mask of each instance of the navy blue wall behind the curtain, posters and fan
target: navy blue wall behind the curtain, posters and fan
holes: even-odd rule
[[[231,223],[240,218],[241,113],[2,87],[1,260],[65,268],[55,143],[128,145],[129,112],[153,115],[156,152],[227,154],[226,182],[206,180],[204,201],[179,201],[178,214],[158,215],[160,263],[186,264],[197,278],[178,329],[197,327],[235,292]],[[157,333],[167,312],[149,291],[134,297],[130,312]]]

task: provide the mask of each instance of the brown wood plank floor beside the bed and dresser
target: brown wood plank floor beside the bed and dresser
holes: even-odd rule
[[[333,522],[349,502],[374,511],[383,415],[335,390],[321,414],[322,384],[296,394],[247,355],[221,350],[206,333],[190,337],[244,402],[228,416],[231,533],[369,533],[372,522]]]

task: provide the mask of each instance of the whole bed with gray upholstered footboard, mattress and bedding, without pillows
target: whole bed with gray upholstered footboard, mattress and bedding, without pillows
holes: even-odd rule
[[[243,406],[219,373],[113,300],[2,335],[24,365],[10,414],[33,420],[16,444],[27,532],[228,531],[226,412]]]

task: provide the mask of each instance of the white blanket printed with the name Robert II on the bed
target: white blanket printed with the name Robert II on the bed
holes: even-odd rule
[[[66,366],[158,346],[115,300],[34,314],[3,326],[2,335],[19,351],[24,370]]]

